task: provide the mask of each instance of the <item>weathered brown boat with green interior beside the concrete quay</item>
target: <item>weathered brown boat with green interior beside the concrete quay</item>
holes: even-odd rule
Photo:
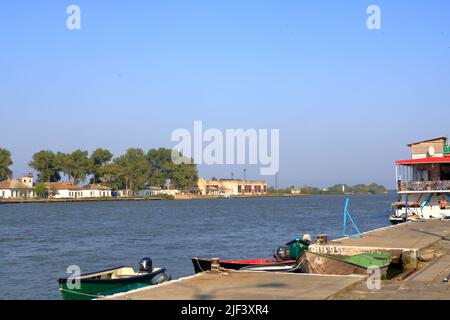
[[[381,276],[387,272],[391,256],[378,253],[363,253],[351,257],[331,256],[306,251],[302,262],[302,272],[313,274],[367,274],[371,266],[380,268]]]

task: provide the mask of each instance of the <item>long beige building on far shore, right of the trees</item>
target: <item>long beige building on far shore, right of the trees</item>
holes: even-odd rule
[[[263,180],[198,180],[198,189],[202,195],[237,196],[267,194],[267,181]]]

